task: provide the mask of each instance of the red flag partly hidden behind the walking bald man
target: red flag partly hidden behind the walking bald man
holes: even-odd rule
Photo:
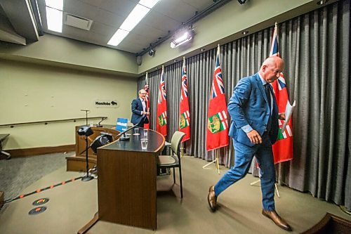
[[[277,39],[277,23],[275,24],[272,38],[272,46],[270,48],[270,56],[279,56],[278,39]],[[277,99],[279,113],[285,112],[286,103],[289,101],[288,91],[284,74],[281,72],[279,78],[272,83],[275,98]],[[285,162],[293,159],[293,119],[290,118],[286,129],[282,132],[284,120],[279,120],[278,139],[273,145],[274,163]]]

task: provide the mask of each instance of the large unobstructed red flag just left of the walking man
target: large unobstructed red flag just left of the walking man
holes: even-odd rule
[[[225,89],[220,70],[220,46],[217,48],[215,72],[211,87],[211,96],[207,114],[206,150],[215,150],[229,144],[228,112]]]

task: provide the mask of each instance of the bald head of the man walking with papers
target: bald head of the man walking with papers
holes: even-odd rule
[[[263,77],[266,82],[272,83],[279,78],[280,72],[282,72],[283,69],[284,61],[282,58],[271,56],[263,61],[258,73],[260,73],[261,77]]]

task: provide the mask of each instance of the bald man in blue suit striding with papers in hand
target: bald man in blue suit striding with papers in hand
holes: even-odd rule
[[[239,181],[249,171],[253,156],[260,166],[260,183],[263,197],[262,214],[272,219],[277,226],[292,230],[275,211],[275,169],[272,144],[277,140],[279,114],[277,101],[270,83],[278,79],[284,68],[282,58],[267,58],[258,73],[241,79],[234,88],[228,112],[232,119],[229,135],[233,138],[235,164],[220,178],[208,193],[208,204],[213,212],[217,208],[217,197],[226,188]]]

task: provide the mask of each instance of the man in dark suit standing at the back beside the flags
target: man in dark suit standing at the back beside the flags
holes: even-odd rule
[[[149,115],[148,110],[146,110],[146,91],[145,89],[139,90],[139,97],[135,98],[131,104],[132,117],[131,123],[138,126],[144,127],[144,124],[149,123],[147,115]]]

